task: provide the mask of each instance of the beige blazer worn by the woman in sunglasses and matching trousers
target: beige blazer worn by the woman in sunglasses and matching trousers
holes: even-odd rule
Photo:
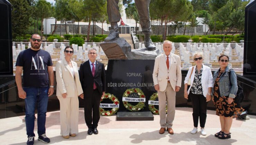
[[[77,64],[74,61],[71,61],[71,63],[75,72],[75,77],[73,77],[72,71],[67,64],[66,59],[60,60],[56,64],[55,71],[57,82],[57,96],[62,96],[62,94],[67,93],[67,97],[77,97],[78,95],[83,93],[83,89],[79,79]]]

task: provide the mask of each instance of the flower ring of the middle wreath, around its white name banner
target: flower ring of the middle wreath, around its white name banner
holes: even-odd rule
[[[129,94],[131,94],[131,93],[137,93],[139,95],[139,98],[145,98],[143,91],[139,88],[132,88],[132,89],[125,90],[123,97],[128,97]],[[137,105],[131,105],[130,103],[128,103],[128,101],[123,101],[123,104],[126,109],[128,109],[132,112],[137,112],[137,111],[143,109],[145,106],[145,102],[138,102]]]

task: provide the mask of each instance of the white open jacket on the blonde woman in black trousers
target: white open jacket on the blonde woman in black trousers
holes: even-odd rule
[[[191,88],[192,83],[193,83],[194,78],[195,78],[195,69],[196,69],[196,65],[194,66],[193,70],[192,70],[192,67],[190,67],[189,71],[188,71],[188,74],[187,74],[187,76],[185,77],[185,80],[184,80],[184,84],[188,84],[189,76],[191,74],[191,71],[193,71],[192,75],[191,75],[191,78],[190,78],[191,85],[188,89],[188,94],[190,92],[190,88]],[[208,88],[213,87],[213,79],[212,79],[211,68],[208,67],[208,66],[205,66],[205,65],[203,65],[201,84],[202,84],[202,89],[203,89],[203,96],[206,97],[206,95],[208,94]],[[209,92],[209,93],[211,93],[211,92]]]

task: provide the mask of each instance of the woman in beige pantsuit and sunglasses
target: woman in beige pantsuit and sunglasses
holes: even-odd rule
[[[56,95],[60,101],[61,135],[75,137],[78,133],[78,97],[83,95],[76,62],[71,60],[73,48],[64,49],[65,59],[56,65]]]

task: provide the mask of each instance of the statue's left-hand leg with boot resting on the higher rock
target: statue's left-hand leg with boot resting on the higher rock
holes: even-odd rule
[[[119,38],[117,22],[119,22],[121,18],[118,7],[119,0],[107,0],[107,2],[108,20],[110,22],[111,28],[108,37],[104,40],[106,42]]]

